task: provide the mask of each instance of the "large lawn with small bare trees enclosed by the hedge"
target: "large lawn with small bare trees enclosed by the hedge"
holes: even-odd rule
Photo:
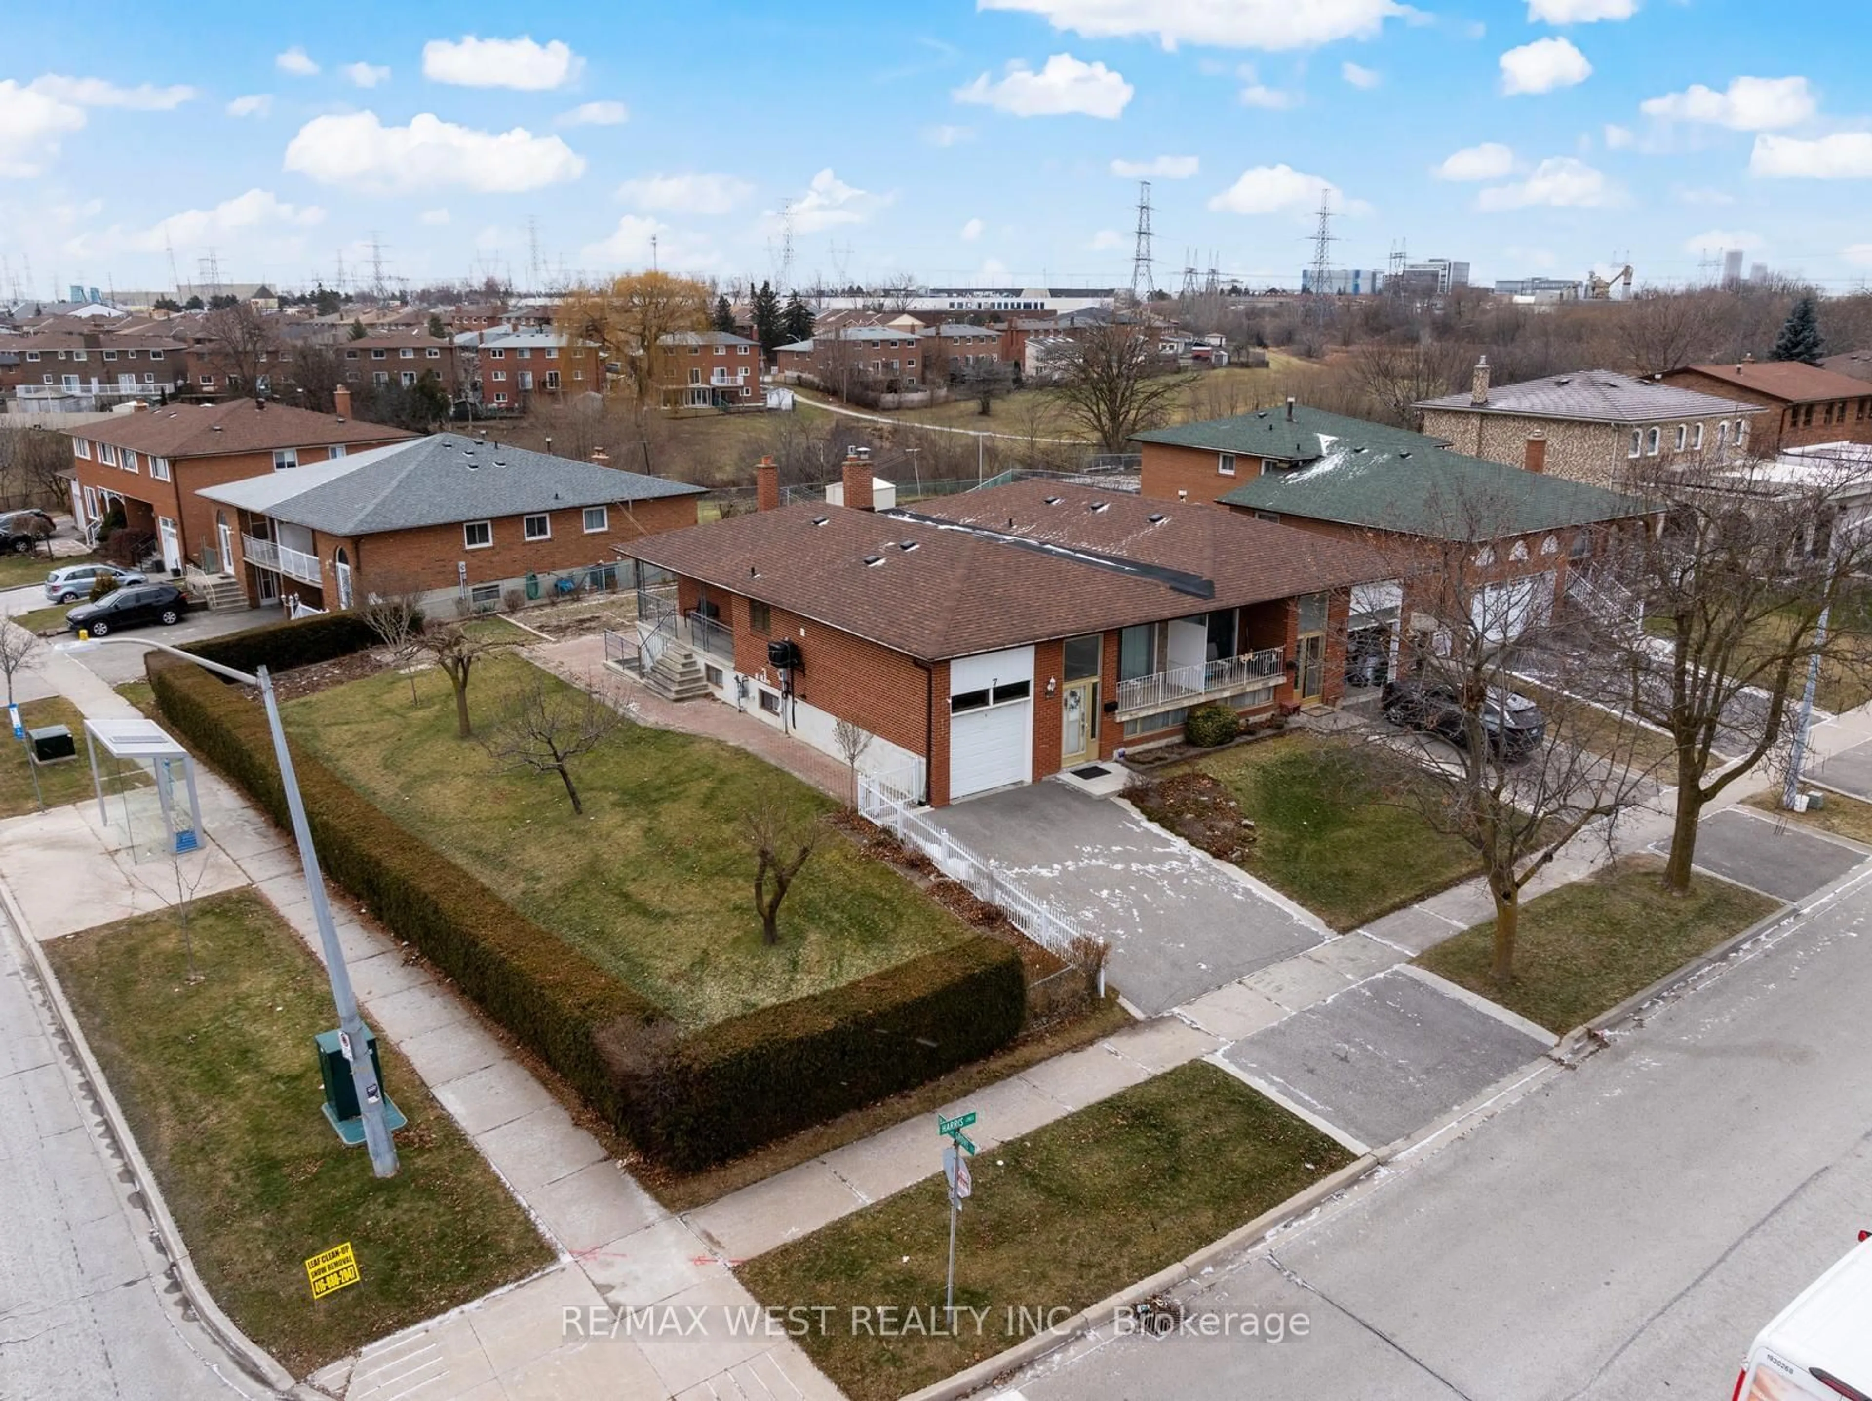
[[[496,718],[526,668],[513,655],[475,666],[477,724]],[[408,679],[380,673],[290,701],[286,724],[378,806],[687,1027],[968,937],[827,827],[768,948],[741,814],[764,793],[797,814],[827,814],[831,799],[730,744],[625,726],[575,761],[586,801],[575,817],[556,776],[498,774],[477,743],[455,737],[447,677],[427,670],[416,685],[414,709]]]

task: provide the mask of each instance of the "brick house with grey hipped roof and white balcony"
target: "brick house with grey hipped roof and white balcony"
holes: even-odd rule
[[[461,434],[210,486],[238,518],[238,569],[255,606],[292,595],[350,608],[373,580],[410,584],[431,608],[498,608],[616,584],[614,546],[696,524],[700,486]],[[593,580],[592,572],[599,578]]]

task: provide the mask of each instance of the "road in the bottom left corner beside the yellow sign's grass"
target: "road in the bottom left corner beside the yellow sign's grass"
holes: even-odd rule
[[[0,1397],[266,1395],[193,1322],[0,918]]]

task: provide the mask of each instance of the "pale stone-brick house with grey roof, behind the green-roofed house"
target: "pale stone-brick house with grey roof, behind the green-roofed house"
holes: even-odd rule
[[[1490,385],[1488,361],[1466,395],[1426,398],[1423,432],[1458,453],[1520,466],[1528,438],[1546,438],[1546,469],[1619,486],[1632,468],[1732,462],[1750,451],[1765,410],[1614,370],[1576,370]]]

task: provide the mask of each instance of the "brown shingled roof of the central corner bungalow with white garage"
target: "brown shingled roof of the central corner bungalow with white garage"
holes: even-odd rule
[[[968,492],[929,514],[794,505],[651,535],[629,554],[925,660],[1395,574],[1363,546],[1221,507],[1050,483]]]

